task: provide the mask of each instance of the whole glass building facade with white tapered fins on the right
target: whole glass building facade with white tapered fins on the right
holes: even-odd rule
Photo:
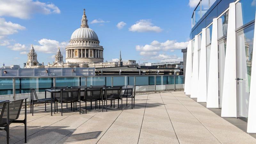
[[[209,0],[209,10],[203,7],[200,1],[191,19],[184,92],[256,133],[254,0]]]

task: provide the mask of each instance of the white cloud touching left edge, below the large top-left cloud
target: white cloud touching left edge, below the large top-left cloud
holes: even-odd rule
[[[12,23],[11,21],[5,21],[4,18],[0,18],[0,37],[4,37],[6,35],[12,35],[14,33],[18,33],[18,30],[23,30],[25,27]]]

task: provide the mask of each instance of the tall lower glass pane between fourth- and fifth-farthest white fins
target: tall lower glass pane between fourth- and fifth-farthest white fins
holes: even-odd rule
[[[221,108],[221,105],[222,105],[226,45],[227,45],[227,39],[221,40],[218,43],[218,50],[219,50],[219,95],[220,95],[220,97],[219,97],[219,108]]]

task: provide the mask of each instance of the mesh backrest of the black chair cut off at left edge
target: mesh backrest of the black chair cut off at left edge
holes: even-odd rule
[[[20,116],[20,110],[22,107],[22,103],[25,99],[14,100],[10,102],[4,102],[2,107],[2,111],[0,114],[0,125],[7,123],[7,108],[9,105],[9,122],[16,120]]]

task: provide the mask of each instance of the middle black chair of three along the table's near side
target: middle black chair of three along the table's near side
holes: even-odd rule
[[[95,109],[96,105],[98,108],[98,103],[97,101],[102,100],[102,87],[99,88],[85,88],[84,89],[84,96],[81,97],[81,100],[85,102],[85,113],[87,113],[87,101],[91,102],[91,109],[92,109],[92,101],[95,101]],[[103,109],[103,108],[102,108]]]

